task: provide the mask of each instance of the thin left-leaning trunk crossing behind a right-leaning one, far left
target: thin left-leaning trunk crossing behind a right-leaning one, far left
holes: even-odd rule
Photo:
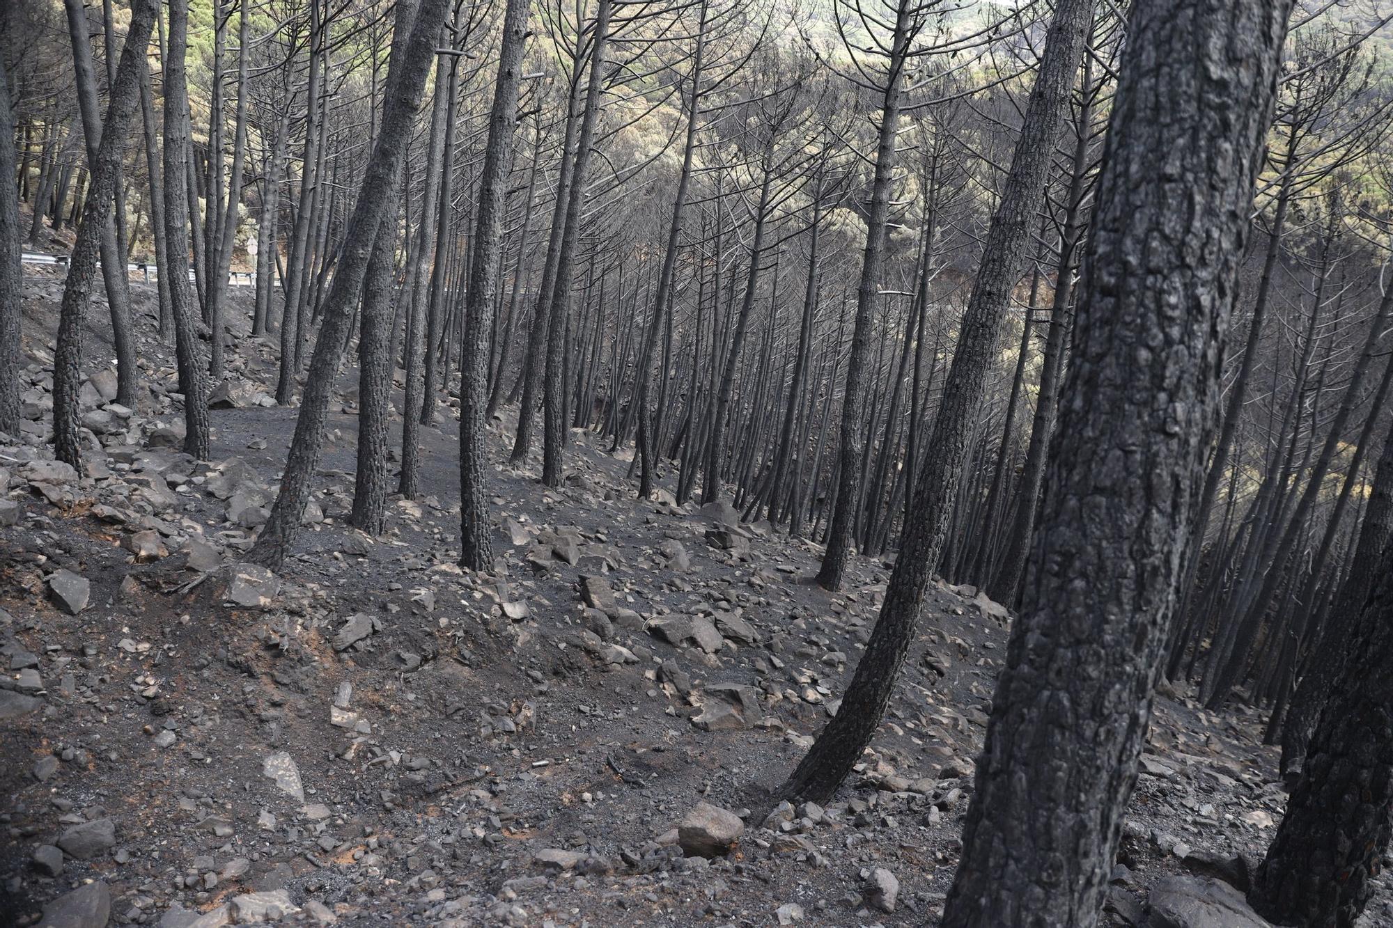
[[[88,174],[96,174],[98,148],[102,141],[102,117],[99,113],[96,95],[96,71],[92,67],[92,45],[88,36],[86,10],[82,0],[64,0],[63,4],[68,15],[68,32],[72,39],[72,65],[77,77],[78,110],[82,116],[82,134],[86,138]],[[137,88],[137,92],[139,88]],[[111,178],[111,196],[116,196],[120,183],[121,152],[125,139],[117,139],[120,148],[116,149],[116,171]],[[95,205],[92,195],[96,184],[88,184],[88,209]],[[135,405],[135,339],[131,334],[131,284],[125,277],[125,256],[117,234],[116,215],[106,212],[107,229],[102,231],[102,277],[106,281],[106,301],[111,314],[111,341],[116,347],[116,400],[117,403]]]

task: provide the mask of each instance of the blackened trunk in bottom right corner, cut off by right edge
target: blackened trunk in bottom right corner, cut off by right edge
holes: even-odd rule
[[[1353,623],[1353,659],[1330,693],[1301,780],[1254,881],[1254,907],[1277,924],[1353,928],[1389,846],[1393,545],[1385,545],[1373,575],[1373,594]]]

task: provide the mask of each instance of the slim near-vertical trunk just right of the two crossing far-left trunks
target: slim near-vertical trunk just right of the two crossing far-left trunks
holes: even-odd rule
[[[170,1],[169,49],[164,54],[164,255],[170,265],[170,315],[178,389],[184,394],[184,450],[208,458],[208,378],[194,330],[188,291],[188,0]]]

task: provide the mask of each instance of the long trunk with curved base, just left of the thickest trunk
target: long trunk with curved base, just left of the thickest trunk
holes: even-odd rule
[[[919,606],[943,550],[958,479],[981,418],[986,376],[999,354],[1004,309],[1020,279],[1021,256],[1027,254],[1029,230],[1068,107],[1091,11],[1091,0],[1061,0],[1056,6],[1041,72],[1025,107],[1021,138],[963,315],[933,432],[924,446],[914,489],[917,518],[905,527],[880,619],[841,699],[841,709],[781,787],[784,796],[818,800],[837,789],[875,736],[900,665],[914,641]]]

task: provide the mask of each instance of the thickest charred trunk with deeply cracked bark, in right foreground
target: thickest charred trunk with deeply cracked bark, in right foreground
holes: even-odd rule
[[[1213,438],[1290,8],[1133,7],[1045,510],[944,928],[1096,924]]]

